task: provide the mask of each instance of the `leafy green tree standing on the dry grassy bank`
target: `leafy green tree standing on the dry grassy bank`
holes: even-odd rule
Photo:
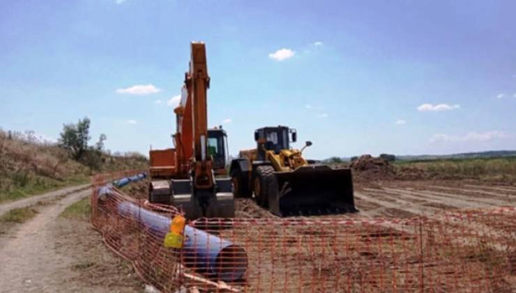
[[[79,119],[77,124],[63,125],[63,132],[59,138],[59,145],[70,152],[71,157],[75,160],[82,158],[84,153],[88,150],[90,120],[84,117]]]

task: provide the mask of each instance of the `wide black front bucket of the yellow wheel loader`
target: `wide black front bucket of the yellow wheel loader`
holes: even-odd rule
[[[358,212],[349,168],[310,165],[276,172],[278,192],[271,193],[269,210],[278,216],[310,216]]]

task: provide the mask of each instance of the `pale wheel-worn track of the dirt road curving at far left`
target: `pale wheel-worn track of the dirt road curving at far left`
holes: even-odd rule
[[[63,292],[59,284],[65,276],[59,273],[72,260],[56,253],[52,227],[68,205],[90,194],[90,190],[69,194],[0,239],[0,292]]]

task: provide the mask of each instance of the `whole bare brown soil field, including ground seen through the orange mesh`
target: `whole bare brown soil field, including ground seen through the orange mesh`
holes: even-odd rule
[[[146,184],[123,192],[145,198]],[[233,285],[245,284],[250,292],[376,292],[396,286],[412,291],[418,290],[423,270],[425,290],[461,291],[471,284],[496,292],[516,290],[516,275],[499,271],[516,243],[515,232],[506,229],[514,223],[505,225],[514,217],[476,214],[516,206],[516,187],[474,180],[358,180],[355,200],[357,213],[283,218],[291,221],[284,225],[252,198],[237,198],[238,219],[231,227],[195,225],[245,247],[247,276]],[[443,216],[462,210],[473,218],[456,222]],[[423,228],[416,216],[427,219]],[[419,251],[425,251],[423,266]],[[516,255],[510,258],[516,261]],[[489,271],[495,280],[488,281]]]

